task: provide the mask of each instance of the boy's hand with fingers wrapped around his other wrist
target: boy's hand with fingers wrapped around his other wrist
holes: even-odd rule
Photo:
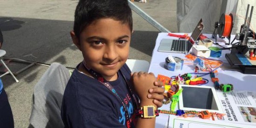
[[[153,102],[155,103],[155,105],[158,108],[160,108],[160,107],[162,107],[162,101],[164,99],[164,96],[163,96],[164,88],[162,88],[163,83],[160,81],[155,81],[154,85],[155,85],[154,88],[150,88],[148,90],[148,92],[149,92],[148,98],[154,99]]]

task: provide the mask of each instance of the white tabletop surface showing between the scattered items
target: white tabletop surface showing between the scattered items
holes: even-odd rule
[[[177,33],[179,34],[179,33]],[[204,34],[209,37],[209,39],[214,40],[211,38],[211,34]],[[232,36],[234,37],[234,36]],[[168,33],[159,33],[158,37],[155,41],[155,48],[153,50],[152,59],[150,62],[150,66],[148,72],[152,72],[157,76],[158,74],[166,75],[166,76],[176,76],[178,74],[185,74],[185,73],[193,73],[195,66],[193,65],[183,65],[181,71],[169,71],[164,67],[165,58],[168,57],[169,54],[172,56],[177,56],[180,58],[185,59],[185,54],[176,54],[176,53],[167,53],[167,52],[158,52],[158,47],[163,38],[168,39],[178,39],[176,37],[168,36]],[[232,40],[233,38],[231,38]],[[228,39],[218,39],[218,43],[225,44],[225,41]],[[233,84],[234,90],[253,90],[256,91],[256,75],[254,74],[243,74],[239,70],[231,69],[229,63],[226,61],[225,54],[229,53],[229,50],[222,50],[222,56],[218,58],[219,60],[224,62],[223,67],[218,69],[218,74],[216,78],[219,79],[219,83],[225,84]],[[215,58],[216,59],[216,58]],[[205,75],[203,78],[209,80],[209,83],[206,86],[214,86],[213,82],[210,79],[210,75]],[[169,110],[169,105],[163,105],[162,108],[164,110]],[[163,128],[166,122],[168,121],[167,114],[160,114],[159,117],[156,118],[155,128]]]

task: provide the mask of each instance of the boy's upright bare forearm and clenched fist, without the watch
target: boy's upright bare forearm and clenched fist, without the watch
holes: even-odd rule
[[[132,83],[134,85],[135,91],[140,98],[140,107],[143,106],[157,106],[153,102],[154,99],[149,99],[147,97],[148,90],[154,87],[155,75],[153,73],[134,73],[132,74]],[[155,117],[154,118],[139,118],[136,124],[136,128],[155,128]]]

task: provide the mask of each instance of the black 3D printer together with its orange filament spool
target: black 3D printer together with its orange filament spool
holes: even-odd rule
[[[240,28],[240,33],[237,33],[234,39],[239,40],[239,42],[233,44],[233,40],[230,43],[230,34],[233,27],[232,14],[222,14],[220,21],[215,24],[216,29],[213,33],[213,37],[216,38],[215,32],[217,30],[217,34],[220,38],[227,37],[229,39],[228,45],[232,45],[232,47],[222,49],[231,49],[230,54],[226,54],[225,57],[232,67],[240,67],[243,74],[256,74],[256,34],[249,28],[253,14],[253,6],[251,7],[248,17],[249,8],[250,5],[247,6],[244,24]]]

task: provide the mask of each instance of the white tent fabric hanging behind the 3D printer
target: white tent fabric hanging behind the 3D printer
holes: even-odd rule
[[[205,27],[203,33],[212,34],[215,22],[219,21],[221,14],[232,13],[234,26],[231,34],[239,33],[248,4],[256,6],[256,0],[177,0],[178,31],[191,33],[202,18]],[[250,28],[256,29],[256,10],[252,15]]]

